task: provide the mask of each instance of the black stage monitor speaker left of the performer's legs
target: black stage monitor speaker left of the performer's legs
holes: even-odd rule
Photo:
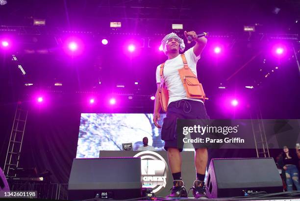
[[[68,186],[69,200],[142,197],[141,158],[75,158]]]

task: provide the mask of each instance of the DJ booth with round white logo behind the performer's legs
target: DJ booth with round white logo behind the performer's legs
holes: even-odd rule
[[[194,155],[194,151],[181,152],[181,176],[187,188],[192,187],[196,179]],[[155,196],[158,197],[170,194],[173,177],[167,151],[100,151],[99,157],[141,157],[143,187],[152,188]],[[192,196],[192,192],[189,196]]]

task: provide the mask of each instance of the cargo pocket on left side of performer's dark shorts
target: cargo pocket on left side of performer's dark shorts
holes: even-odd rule
[[[176,139],[176,122],[177,117],[166,117],[161,128],[161,139],[163,141],[170,141]]]

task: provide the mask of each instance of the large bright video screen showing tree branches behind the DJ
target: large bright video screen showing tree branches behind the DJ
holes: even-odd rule
[[[159,125],[164,117],[161,114]],[[164,150],[160,128],[152,119],[153,114],[82,113],[76,158],[96,158],[99,151],[122,151],[122,143],[132,143],[137,150],[143,145],[143,137],[148,137],[148,144],[157,151]]]

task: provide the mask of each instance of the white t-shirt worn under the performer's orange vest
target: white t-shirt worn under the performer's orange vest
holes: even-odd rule
[[[190,48],[189,50],[186,50],[184,52],[184,56],[186,58],[186,61],[188,63],[189,68],[192,70],[192,72],[197,76],[197,61],[200,59],[200,55],[196,56],[194,53],[194,47]],[[176,56],[173,59],[168,59],[164,66],[164,79],[169,91],[169,102],[168,105],[177,100],[181,99],[189,99],[189,100],[197,100],[203,103],[202,100],[199,99],[192,99],[186,97],[186,91],[184,89],[184,86],[181,82],[180,75],[178,70],[183,68],[183,61],[181,58],[181,54]],[[156,69],[156,83],[160,83],[160,65],[157,66]]]

